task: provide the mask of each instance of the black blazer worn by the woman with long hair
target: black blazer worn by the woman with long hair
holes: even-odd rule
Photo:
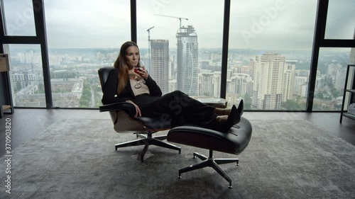
[[[128,74],[127,74],[128,75]],[[162,92],[156,82],[148,76],[148,79],[145,80],[146,85],[151,93],[151,96],[161,96]],[[121,94],[117,94],[117,86],[119,82],[119,69],[113,69],[109,73],[107,78],[106,84],[104,85],[104,96],[102,96],[102,103],[109,104],[109,103],[117,103],[117,102],[124,102],[127,100],[131,100],[134,103],[136,97],[131,88],[131,83],[129,79],[127,80],[126,86]]]

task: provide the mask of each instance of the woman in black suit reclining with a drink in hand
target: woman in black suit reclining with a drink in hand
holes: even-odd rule
[[[197,125],[227,132],[239,123],[236,106],[231,110],[207,106],[181,91],[162,96],[162,92],[146,69],[139,66],[139,49],[135,42],[125,42],[114,69],[104,86],[103,104],[128,102],[136,108],[136,115],[170,120],[172,127]],[[138,68],[138,69],[137,69]],[[136,69],[136,70],[135,70]]]

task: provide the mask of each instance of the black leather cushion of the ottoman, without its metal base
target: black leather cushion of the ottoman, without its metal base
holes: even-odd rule
[[[168,132],[167,141],[229,154],[240,154],[248,146],[251,132],[251,123],[241,117],[241,121],[231,127],[229,132],[190,125],[174,127]]]

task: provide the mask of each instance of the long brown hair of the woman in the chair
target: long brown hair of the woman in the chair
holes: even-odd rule
[[[135,46],[138,48],[138,45],[136,42],[124,42],[123,45],[121,45],[121,49],[119,50],[119,57],[117,57],[116,61],[114,62],[114,67],[116,69],[119,69],[119,85],[117,86],[117,93],[120,94],[123,90],[124,87],[127,84],[127,80],[129,79],[129,67],[127,66],[126,62],[126,50],[127,48]],[[139,51],[139,48],[138,48]],[[141,59],[141,57],[139,57]],[[139,61],[138,59],[138,61]],[[139,62],[138,62],[139,63]]]

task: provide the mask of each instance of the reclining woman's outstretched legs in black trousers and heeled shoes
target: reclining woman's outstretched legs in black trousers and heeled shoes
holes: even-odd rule
[[[170,120],[172,127],[197,125],[227,132],[240,120],[240,113],[236,106],[231,108],[228,116],[219,116],[214,113],[216,108],[190,98],[181,91],[168,93],[140,108],[142,116],[160,118],[162,121]]]

